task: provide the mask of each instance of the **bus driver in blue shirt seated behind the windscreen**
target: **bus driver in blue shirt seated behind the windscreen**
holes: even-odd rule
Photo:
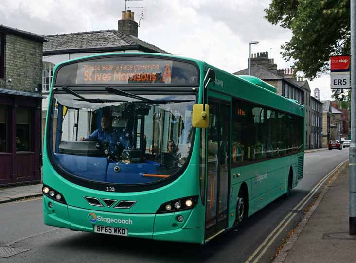
[[[103,143],[108,143],[110,155],[119,154],[118,145],[120,144],[120,136],[117,130],[112,128],[110,116],[103,115],[101,117],[101,129],[97,129],[89,136],[81,137],[79,140],[90,140],[90,139],[98,140]]]

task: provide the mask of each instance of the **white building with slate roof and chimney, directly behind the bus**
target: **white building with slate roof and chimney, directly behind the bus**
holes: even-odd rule
[[[134,15],[134,12],[130,10],[122,11],[117,30],[44,36],[47,42],[43,44],[42,92],[45,97],[42,106],[43,127],[45,127],[48,94],[55,64],[99,53],[149,52],[169,54],[155,45],[138,38],[138,24]],[[44,129],[42,132],[44,133]]]

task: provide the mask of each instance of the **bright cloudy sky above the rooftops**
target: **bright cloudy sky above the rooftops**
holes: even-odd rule
[[[180,56],[204,60],[228,72],[248,68],[251,53],[268,52],[278,69],[290,68],[280,46],[292,34],[264,18],[271,0],[143,0],[127,1],[143,7],[138,37]],[[0,0],[0,24],[39,35],[117,29],[124,0]],[[141,9],[132,8],[135,20]],[[303,76],[302,72],[297,75]],[[331,96],[330,76],[309,81],[320,99]]]

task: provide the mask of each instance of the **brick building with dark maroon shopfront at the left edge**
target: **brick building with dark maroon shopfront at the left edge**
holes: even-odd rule
[[[0,186],[40,181],[43,42],[0,25]]]

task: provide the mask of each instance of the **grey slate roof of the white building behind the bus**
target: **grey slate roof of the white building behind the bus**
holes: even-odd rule
[[[104,52],[121,50],[143,50],[145,52],[168,52],[144,42],[132,35],[125,35],[117,30],[100,30],[70,34],[45,35],[43,54]]]

